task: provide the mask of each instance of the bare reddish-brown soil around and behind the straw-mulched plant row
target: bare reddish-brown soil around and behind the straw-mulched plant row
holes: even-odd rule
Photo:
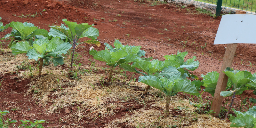
[[[188,51],[188,58],[196,56],[200,62],[199,68],[192,71],[193,74],[200,76],[206,75],[207,72],[220,71],[226,44],[213,45],[221,17],[214,19],[210,16],[199,14],[194,7],[181,8],[175,4],[160,4],[150,6],[151,3],[138,3],[134,0],[0,0],[0,16],[3,24],[12,21],[31,22],[40,28],[49,30],[49,26],[60,25],[62,19],[76,21],[77,23],[95,24],[95,28],[99,29],[100,36],[98,40],[101,43],[113,44],[114,39],[120,40],[124,45],[140,45],[142,50],[147,51],[146,56],[152,56],[154,59],[164,60],[166,54],[176,54],[177,51]],[[21,14],[35,14],[43,9],[47,11],[39,14],[38,17],[20,18]],[[118,16],[118,14],[120,16]],[[116,22],[114,20],[117,20]],[[3,37],[10,33],[8,28],[5,32],[0,33]],[[188,41],[187,44],[184,42]],[[85,40],[85,39],[82,39]],[[183,41],[182,43],[180,43]],[[195,42],[195,44],[192,44]],[[206,44],[206,47],[202,47]],[[2,44],[3,45],[3,44]],[[6,48],[8,45],[4,44]],[[94,60],[89,55],[89,48],[92,44],[81,44],[77,48],[77,53],[82,55],[84,65],[91,65],[91,61],[95,61],[97,66],[105,67],[105,63]],[[201,47],[202,46],[202,47]],[[233,67],[235,69],[247,70],[255,72],[255,44],[238,44],[236,57],[234,58]],[[100,47],[94,46],[96,50],[103,50],[104,45]],[[241,64],[241,60],[243,60]],[[252,63],[252,68],[249,62]],[[60,113],[46,115],[45,109],[36,105],[35,101],[29,100],[30,95],[23,96],[26,92],[29,79],[15,80],[12,79],[15,74],[5,74],[0,80],[5,79],[2,83],[0,92],[1,110],[9,110],[12,113],[10,117],[16,120],[20,119],[45,119],[49,121],[47,126],[71,125],[72,122],[60,122],[59,119],[67,115],[64,110]],[[138,77],[138,76],[137,76]],[[200,78],[202,80],[202,78]],[[244,97],[256,98],[252,91],[244,91]],[[211,100],[209,93],[204,93],[202,97],[205,100]],[[236,96],[235,106],[241,103],[240,96]],[[223,103],[225,100],[223,100]],[[12,111],[11,108],[19,109]],[[227,105],[226,105],[227,107]],[[246,106],[248,107],[248,105]],[[36,108],[28,110],[28,108]],[[47,106],[46,106],[47,108]],[[35,116],[24,116],[20,113],[33,113]],[[33,111],[32,111],[33,110]],[[122,112],[113,117],[108,117],[106,121],[121,117]],[[101,127],[104,124],[99,120],[92,124],[83,124],[84,127]],[[123,125],[124,127],[125,125]]]

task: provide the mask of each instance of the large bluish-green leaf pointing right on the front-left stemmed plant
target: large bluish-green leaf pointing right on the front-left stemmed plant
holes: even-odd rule
[[[47,56],[52,56],[52,57],[57,57],[57,54],[66,54],[67,51],[72,47],[70,43],[63,43],[57,45],[56,49],[52,52],[49,52],[45,57]]]

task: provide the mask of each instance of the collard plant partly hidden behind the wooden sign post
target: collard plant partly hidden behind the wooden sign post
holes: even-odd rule
[[[230,106],[228,108],[228,112],[225,116],[225,119],[228,116],[228,113],[230,112],[230,109],[232,107],[233,101],[235,99],[235,95],[241,95],[245,90],[251,89],[256,90],[256,77],[254,74],[251,74],[251,72],[248,71],[239,71],[239,70],[233,70],[233,68],[226,68],[223,71],[228,76],[228,83],[226,90],[228,91],[222,91],[220,92],[220,95],[223,97],[232,96]],[[205,92],[209,92],[214,96],[215,88],[217,85],[219,73],[217,72],[211,72],[207,73],[207,75],[201,75],[204,80],[204,85],[206,88],[204,89]]]

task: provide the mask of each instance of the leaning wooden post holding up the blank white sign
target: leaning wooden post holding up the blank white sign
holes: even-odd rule
[[[236,14],[246,14],[246,12],[237,10]],[[235,26],[234,26],[235,27]],[[222,61],[222,66],[220,68],[220,76],[217,82],[217,86],[215,89],[214,97],[212,100],[211,110],[213,110],[212,116],[218,116],[220,114],[221,104],[223,97],[220,96],[221,91],[225,91],[228,83],[228,76],[225,75],[222,71],[224,71],[227,67],[231,67],[233,63],[233,59],[236,53],[237,44],[228,44],[226,48],[226,52],[224,54],[224,58]]]

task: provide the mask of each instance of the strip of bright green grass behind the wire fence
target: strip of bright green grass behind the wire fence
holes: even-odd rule
[[[199,2],[217,4],[217,0],[195,0]],[[256,0],[222,0],[222,6],[256,12]]]

